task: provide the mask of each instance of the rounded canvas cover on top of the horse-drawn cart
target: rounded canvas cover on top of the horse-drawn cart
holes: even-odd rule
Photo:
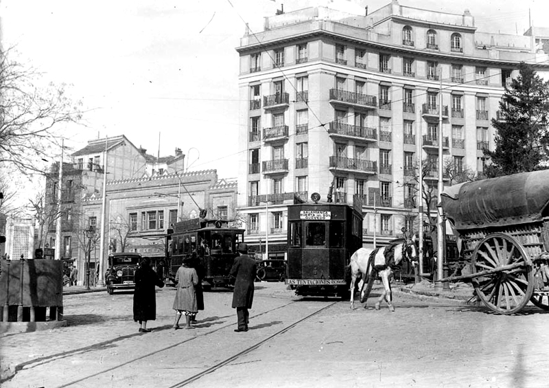
[[[458,230],[538,222],[548,215],[549,170],[460,183],[441,201]]]

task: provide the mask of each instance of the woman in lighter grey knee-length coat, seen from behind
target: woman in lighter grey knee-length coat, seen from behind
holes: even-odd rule
[[[183,263],[176,273],[176,297],[174,299],[174,310],[176,310],[176,320],[174,330],[179,328],[181,315],[185,315],[185,329],[194,329],[191,326],[193,315],[198,312],[196,302],[196,285],[198,284],[198,275],[196,269],[191,268],[192,258],[183,259]]]

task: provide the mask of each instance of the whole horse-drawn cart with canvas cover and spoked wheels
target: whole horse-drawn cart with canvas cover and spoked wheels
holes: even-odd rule
[[[500,314],[528,301],[549,310],[549,170],[461,183],[441,198],[468,263],[463,275],[441,280],[471,279]]]

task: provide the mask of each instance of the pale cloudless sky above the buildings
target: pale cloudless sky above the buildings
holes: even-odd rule
[[[323,5],[369,12],[390,0],[0,0],[3,47],[43,73],[71,85],[82,102],[80,126],[63,128],[72,150],[89,139],[126,135],[148,153],[187,155],[191,170],[237,175],[238,54],[245,23]],[[548,20],[547,0],[400,0],[401,5],[463,14],[480,32],[522,34],[528,11]],[[538,21],[538,22],[537,22]],[[546,27],[549,27],[546,25]]]

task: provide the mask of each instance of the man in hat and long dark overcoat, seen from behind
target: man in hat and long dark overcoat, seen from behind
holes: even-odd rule
[[[245,242],[238,245],[237,251],[239,256],[235,258],[233,268],[231,268],[231,276],[236,277],[235,289],[233,290],[233,308],[236,308],[238,328],[235,329],[235,332],[247,332],[248,308],[252,308],[253,284],[257,265],[255,260],[248,256],[248,245]]]

